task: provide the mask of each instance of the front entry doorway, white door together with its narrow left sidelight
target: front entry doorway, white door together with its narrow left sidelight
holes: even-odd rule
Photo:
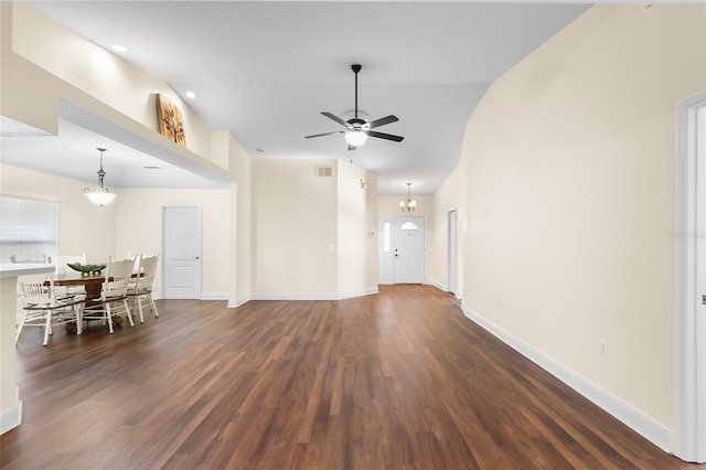
[[[422,284],[424,217],[383,217],[379,232],[383,234],[379,246],[381,284]]]

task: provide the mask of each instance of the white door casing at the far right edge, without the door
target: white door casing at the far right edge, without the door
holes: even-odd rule
[[[674,453],[686,461],[706,461],[706,374],[703,367],[706,342],[698,339],[704,319],[699,319],[696,257],[697,226],[696,109],[706,106],[706,94],[683,103],[676,110],[676,185],[674,242]],[[702,177],[703,178],[703,177]],[[704,234],[702,233],[703,237]],[[700,343],[699,343],[700,341]],[[700,349],[700,350],[699,350]],[[700,370],[700,372],[699,372]]]

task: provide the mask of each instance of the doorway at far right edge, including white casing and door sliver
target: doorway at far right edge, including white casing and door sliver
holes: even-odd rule
[[[676,442],[706,461],[706,94],[678,107],[676,231]]]

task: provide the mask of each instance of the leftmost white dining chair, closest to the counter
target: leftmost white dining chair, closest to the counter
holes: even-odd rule
[[[81,321],[84,309],[84,299],[81,297],[56,298],[54,288],[54,274],[49,279],[33,279],[26,282],[20,281],[22,293],[22,318],[20,319],[14,335],[14,344],[25,327],[44,328],[44,345],[49,343],[49,337],[54,333],[56,324],[76,323],[76,333],[81,334]]]

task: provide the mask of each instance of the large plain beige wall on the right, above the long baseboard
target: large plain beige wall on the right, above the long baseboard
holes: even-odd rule
[[[593,7],[490,87],[461,156],[467,308],[667,430],[675,107],[705,31],[704,6]]]

